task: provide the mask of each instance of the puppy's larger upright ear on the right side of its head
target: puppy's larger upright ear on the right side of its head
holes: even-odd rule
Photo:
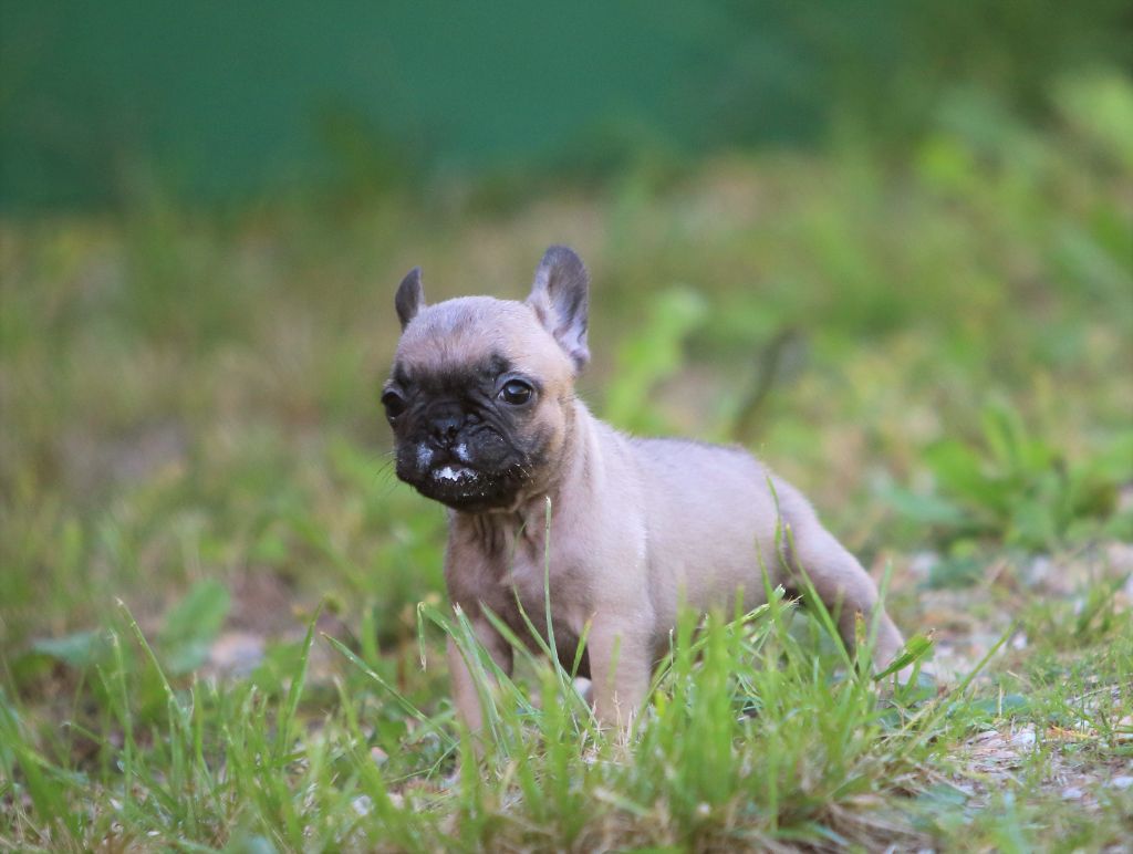
[[[574,373],[590,360],[586,344],[589,282],[586,266],[573,249],[552,246],[535,271],[535,284],[527,298],[527,305],[574,362]]]

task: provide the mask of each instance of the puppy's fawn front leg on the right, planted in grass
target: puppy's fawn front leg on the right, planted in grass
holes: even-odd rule
[[[594,711],[605,726],[629,728],[649,691],[648,631],[629,620],[595,615],[587,640]]]

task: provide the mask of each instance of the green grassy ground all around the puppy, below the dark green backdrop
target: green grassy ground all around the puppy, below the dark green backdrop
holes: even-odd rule
[[[492,210],[5,223],[0,845],[1128,846],[1133,88],[1051,104]],[[471,758],[444,516],[376,405],[392,289],[420,263],[431,299],[519,297],[557,241],[595,279],[583,395],[802,487],[931,633],[935,690],[773,599],[683,622],[629,740],[525,659]]]

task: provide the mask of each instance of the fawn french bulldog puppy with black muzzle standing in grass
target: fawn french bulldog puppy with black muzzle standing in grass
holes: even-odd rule
[[[570,667],[589,623],[580,674],[604,724],[625,725],[646,700],[680,606],[729,609],[739,591],[756,607],[763,566],[796,593],[804,572],[847,644],[859,615],[876,616],[876,664],[891,661],[903,641],[875,615],[876,586],[795,488],[743,449],[628,436],[574,396],[590,358],[588,287],[579,257],[553,246],[525,302],[427,306],[419,268],[394,300],[402,335],[382,403],[397,473],[450,509],[449,596],[496,664],[510,673],[512,648],[486,608],[534,647],[518,599],[547,637],[548,498],[556,651]],[[458,711],[476,731],[472,676],[451,641],[448,655]]]

